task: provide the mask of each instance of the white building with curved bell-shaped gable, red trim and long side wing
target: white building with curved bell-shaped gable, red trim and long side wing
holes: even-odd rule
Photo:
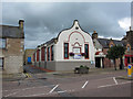
[[[91,35],[75,20],[72,28],[35,48],[33,64],[51,70],[72,70],[80,65],[94,68],[94,54]]]

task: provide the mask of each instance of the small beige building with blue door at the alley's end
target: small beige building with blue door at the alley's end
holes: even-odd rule
[[[23,61],[24,61],[25,65],[33,63],[33,53],[34,53],[33,48],[28,48],[24,51],[24,59]]]

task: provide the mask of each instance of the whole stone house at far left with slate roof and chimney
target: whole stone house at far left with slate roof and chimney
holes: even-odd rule
[[[0,25],[0,69],[3,74],[23,72],[23,22],[19,20],[19,26]]]

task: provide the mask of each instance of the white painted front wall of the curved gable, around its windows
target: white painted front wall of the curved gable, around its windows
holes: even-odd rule
[[[79,28],[79,30],[75,30],[75,28]],[[70,38],[69,38],[70,36]],[[94,61],[94,45],[92,42],[92,37],[90,34],[83,32],[78,21],[74,21],[74,25],[70,30],[62,31],[59,35],[58,43],[54,45],[54,59],[55,61],[64,61],[63,56],[63,44],[64,42],[69,43],[69,53],[72,52],[72,44],[75,42],[79,42],[81,46],[81,53],[84,53],[84,44],[89,44],[89,59],[84,59],[83,57],[80,61]],[[85,42],[85,43],[84,43]],[[71,57],[71,56],[70,56]],[[65,59],[65,61],[79,61],[79,59]]]

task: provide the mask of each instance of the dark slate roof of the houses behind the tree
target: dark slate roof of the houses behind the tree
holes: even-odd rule
[[[109,43],[111,42],[111,40],[108,40],[108,38],[98,38],[99,43],[104,47],[104,48],[109,48]],[[113,43],[115,45],[121,45],[121,46],[124,46],[123,42],[122,41],[116,41],[116,40],[112,40]]]

